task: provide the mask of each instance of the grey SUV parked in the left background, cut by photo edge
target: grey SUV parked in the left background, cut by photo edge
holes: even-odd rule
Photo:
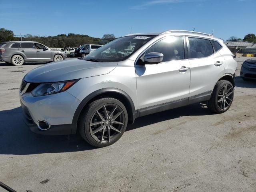
[[[20,66],[25,62],[52,62],[66,59],[66,53],[52,50],[32,41],[10,41],[0,43],[0,60]]]

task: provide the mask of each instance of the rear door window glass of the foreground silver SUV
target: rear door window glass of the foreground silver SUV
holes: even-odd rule
[[[190,58],[208,57],[213,54],[210,40],[199,38],[188,38],[190,44]]]

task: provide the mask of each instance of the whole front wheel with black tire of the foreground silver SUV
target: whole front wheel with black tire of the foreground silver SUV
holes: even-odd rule
[[[124,134],[128,123],[127,110],[115,98],[101,98],[88,104],[81,114],[78,129],[89,144],[105,147]]]

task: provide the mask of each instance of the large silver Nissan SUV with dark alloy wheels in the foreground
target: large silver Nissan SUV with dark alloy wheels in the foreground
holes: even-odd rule
[[[112,47],[116,53],[103,56]],[[223,41],[209,34],[129,34],[84,58],[28,72],[20,102],[33,132],[79,131],[89,144],[104,147],[141,116],[198,102],[225,112],[234,97],[236,67]]]

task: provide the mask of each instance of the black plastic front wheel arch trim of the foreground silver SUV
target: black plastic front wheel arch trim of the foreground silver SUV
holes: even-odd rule
[[[130,124],[132,124],[135,118],[137,118],[137,111],[135,110],[134,103],[126,92],[117,88],[103,88],[92,92],[91,94],[86,96],[86,98],[84,98],[79,104],[72,120],[72,134],[76,133],[80,115],[82,114],[82,111],[85,110],[86,106],[93,100],[97,100],[102,97],[112,97],[120,100],[120,102],[122,102],[126,107],[126,110],[128,112],[128,122]]]

